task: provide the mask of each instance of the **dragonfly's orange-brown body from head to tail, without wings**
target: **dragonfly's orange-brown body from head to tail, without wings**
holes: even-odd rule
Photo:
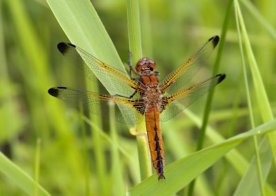
[[[140,63],[140,64],[139,64]],[[159,88],[158,72],[153,72],[155,62],[147,58],[141,59],[137,63],[139,81],[146,88],[146,92],[141,94],[144,99],[145,121],[148,134],[148,146],[152,157],[152,164],[155,167],[159,179],[164,177],[164,149],[160,130],[160,105],[162,103],[161,90]],[[140,69],[139,68],[144,68]]]

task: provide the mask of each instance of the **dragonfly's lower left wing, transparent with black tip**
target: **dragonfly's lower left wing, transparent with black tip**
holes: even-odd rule
[[[63,99],[102,117],[109,117],[110,105],[114,105],[116,121],[121,123],[139,124],[144,119],[144,101],[141,99],[102,95],[67,87],[50,88],[48,92],[53,97]]]

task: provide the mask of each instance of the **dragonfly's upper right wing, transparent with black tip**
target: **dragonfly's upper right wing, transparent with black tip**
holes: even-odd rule
[[[219,37],[214,36],[208,39],[195,54],[193,54],[179,68],[173,70],[161,83],[161,90],[165,93],[172,94],[183,90],[184,86],[199,71],[199,64],[204,64],[206,59],[213,52],[219,43]]]

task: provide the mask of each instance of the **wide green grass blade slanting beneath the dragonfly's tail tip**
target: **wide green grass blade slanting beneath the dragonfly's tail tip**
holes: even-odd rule
[[[175,161],[165,168],[166,180],[158,181],[156,179],[157,175],[153,175],[130,189],[130,195],[173,195],[245,139],[254,135],[268,133],[275,128],[276,120],[270,121],[246,133],[227,139],[220,144],[210,146],[193,155]]]

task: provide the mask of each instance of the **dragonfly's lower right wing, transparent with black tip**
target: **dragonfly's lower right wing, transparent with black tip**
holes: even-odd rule
[[[225,77],[225,74],[215,75],[190,88],[163,97],[163,103],[161,104],[161,121],[168,121],[172,117],[175,117],[175,115],[186,109],[190,104],[193,104],[194,101],[199,99],[199,97],[223,81]]]

